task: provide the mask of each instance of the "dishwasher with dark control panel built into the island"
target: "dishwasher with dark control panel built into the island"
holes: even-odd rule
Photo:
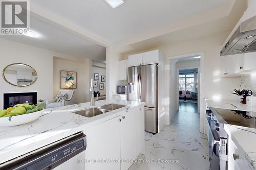
[[[0,169],[85,169],[86,135],[82,132],[0,165]]]

